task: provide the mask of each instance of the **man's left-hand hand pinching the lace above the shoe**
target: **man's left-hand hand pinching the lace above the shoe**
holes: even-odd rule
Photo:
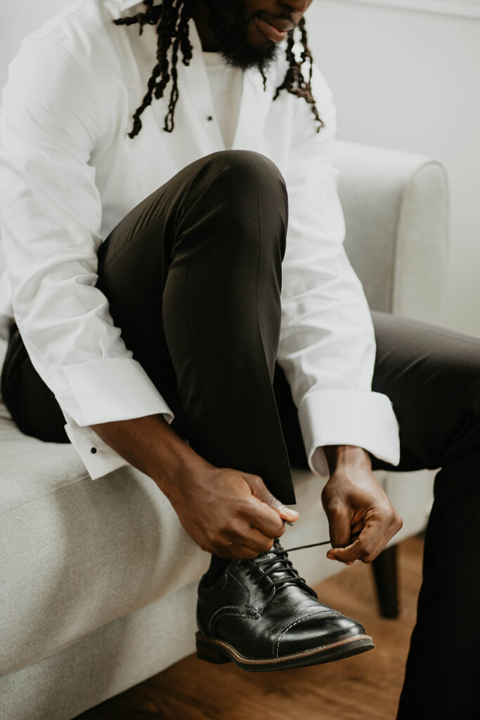
[[[249,558],[267,552],[284,534],[284,520],[299,513],[273,497],[261,477],[204,462],[178,474],[168,499],[187,533],[218,557]]]

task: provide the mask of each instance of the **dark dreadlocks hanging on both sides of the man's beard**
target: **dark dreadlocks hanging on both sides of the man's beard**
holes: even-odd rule
[[[173,130],[173,114],[178,100],[178,52],[181,52],[182,62],[188,66],[192,57],[193,48],[189,40],[189,19],[190,14],[187,9],[185,0],[163,0],[162,4],[154,5],[153,0],[143,0],[145,12],[139,12],[132,17],[120,17],[113,22],[116,25],[132,25],[138,23],[140,25],[139,34],[142,35],[143,26],[145,24],[157,26],[157,63],[153,68],[150,79],[148,80],[148,90],[142,100],[142,104],[135,110],[133,115],[133,127],[128,133],[129,138],[135,138],[142,129],[142,121],[140,115],[147,108],[155,95],[156,99],[163,97],[163,93],[171,80],[170,100],[168,102],[168,112],[165,116],[165,125],[163,130],[172,132]],[[318,114],[314,97],[312,96],[312,71],[313,60],[312,53],[307,44],[307,30],[305,29],[305,19],[299,22],[299,30],[301,32],[302,53],[297,59],[294,53],[294,30],[289,32],[289,40],[286,47],[286,58],[289,61],[289,68],[286,71],[284,81],[276,89],[273,100],[276,100],[281,90],[286,90],[296,97],[303,98],[311,107],[315,120],[318,122],[317,132],[325,123]],[[304,63],[309,63],[308,78],[304,78],[302,68]],[[266,76],[263,68],[259,70],[263,77],[263,87],[266,88]]]

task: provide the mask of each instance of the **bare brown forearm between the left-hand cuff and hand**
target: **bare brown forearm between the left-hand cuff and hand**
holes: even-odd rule
[[[168,425],[163,415],[99,423],[91,428],[133,467],[149,475],[166,495],[178,477],[212,467]]]

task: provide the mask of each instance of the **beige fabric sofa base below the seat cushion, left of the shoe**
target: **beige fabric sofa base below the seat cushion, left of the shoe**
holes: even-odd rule
[[[0,678],[1,716],[67,720],[194,652],[196,582]]]

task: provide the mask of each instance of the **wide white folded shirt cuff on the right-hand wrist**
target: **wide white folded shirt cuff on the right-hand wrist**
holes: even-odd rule
[[[399,426],[391,400],[380,392],[319,391],[304,395],[299,404],[308,464],[328,477],[325,445],[355,445],[391,465],[400,461]]]

